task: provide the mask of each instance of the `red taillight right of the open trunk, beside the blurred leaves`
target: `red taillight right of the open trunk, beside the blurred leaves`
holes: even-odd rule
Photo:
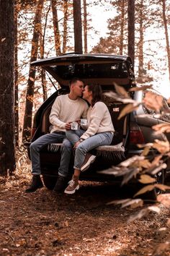
[[[144,144],[145,140],[143,133],[137,124],[131,125],[130,127],[130,144]]]

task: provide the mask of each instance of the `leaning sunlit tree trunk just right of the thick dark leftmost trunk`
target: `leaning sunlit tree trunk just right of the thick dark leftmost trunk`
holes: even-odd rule
[[[40,36],[40,22],[42,17],[42,7],[44,0],[39,0],[35,13],[34,32],[32,37],[32,49],[30,62],[37,60],[38,42]],[[30,67],[29,79],[27,84],[26,104],[24,111],[24,127],[22,132],[22,142],[30,140],[32,127],[32,107],[35,88],[35,67]]]

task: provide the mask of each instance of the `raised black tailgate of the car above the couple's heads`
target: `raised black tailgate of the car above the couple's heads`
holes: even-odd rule
[[[65,54],[33,61],[31,65],[45,69],[61,87],[68,86],[73,77],[79,77],[85,84],[99,83],[105,88],[114,83],[126,89],[135,85],[133,64],[129,56]]]

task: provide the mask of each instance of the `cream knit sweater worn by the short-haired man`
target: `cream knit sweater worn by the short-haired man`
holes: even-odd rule
[[[53,124],[53,129],[50,132],[65,132],[66,123],[76,121],[81,117],[86,119],[87,109],[88,104],[81,98],[73,101],[68,94],[58,96],[50,112],[50,123]]]

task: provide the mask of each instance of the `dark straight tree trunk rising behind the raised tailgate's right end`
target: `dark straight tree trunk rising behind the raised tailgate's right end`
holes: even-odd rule
[[[135,63],[135,0],[128,0],[128,55]]]

